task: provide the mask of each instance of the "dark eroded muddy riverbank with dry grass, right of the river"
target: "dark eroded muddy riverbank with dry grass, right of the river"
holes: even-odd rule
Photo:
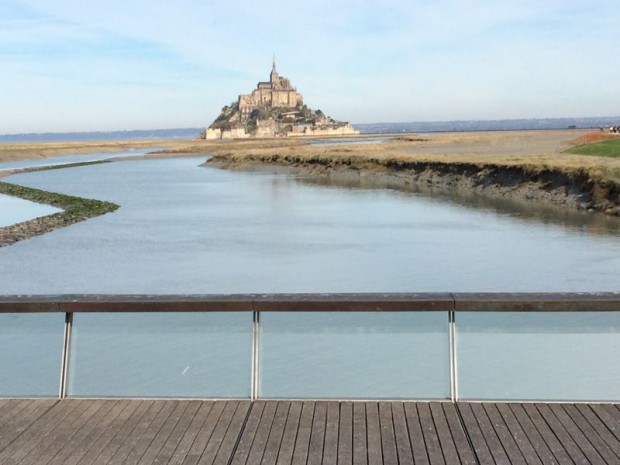
[[[267,170],[338,179],[362,178],[376,185],[420,186],[620,216],[620,186],[610,180],[596,179],[587,169],[277,154],[243,157],[215,155],[207,164],[234,170]]]

